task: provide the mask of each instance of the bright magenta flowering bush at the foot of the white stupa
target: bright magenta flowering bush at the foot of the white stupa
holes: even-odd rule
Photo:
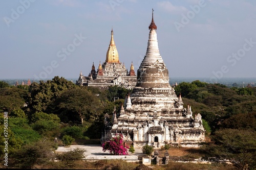
[[[117,134],[110,140],[105,141],[102,144],[103,152],[109,151],[113,155],[128,155],[127,150],[129,147],[123,144],[123,135]]]

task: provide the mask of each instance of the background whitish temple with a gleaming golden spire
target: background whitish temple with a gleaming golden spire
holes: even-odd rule
[[[95,70],[94,63],[92,70],[88,76],[83,76],[82,71],[76,81],[80,86],[94,86],[99,88],[107,88],[108,86],[122,86],[124,88],[133,88],[136,85],[136,75],[133,63],[130,71],[125,68],[124,63],[119,61],[116,44],[114,41],[114,32],[111,30],[111,40],[108,51],[106,52],[105,62]]]

